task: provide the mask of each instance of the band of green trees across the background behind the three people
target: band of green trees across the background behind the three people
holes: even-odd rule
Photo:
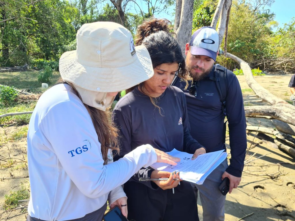
[[[195,0],[193,31],[210,26],[217,3],[217,0]],[[294,71],[295,19],[278,28],[274,14],[264,9],[272,3],[273,0],[232,1],[227,51],[253,68]],[[156,17],[175,2],[4,0],[0,5],[0,67],[10,67],[25,63],[38,66],[48,60],[58,62],[63,52],[75,49],[76,32],[84,23],[118,22],[134,34],[143,19]],[[231,69],[235,67],[233,61],[224,57],[219,57],[218,62]],[[56,69],[58,65],[51,66]]]

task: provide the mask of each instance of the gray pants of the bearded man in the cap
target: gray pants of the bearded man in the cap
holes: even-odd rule
[[[205,179],[202,185],[191,183],[196,198],[198,191],[203,207],[203,221],[223,221],[225,196],[219,191],[221,176],[228,167],[225,159],[211,174]]]

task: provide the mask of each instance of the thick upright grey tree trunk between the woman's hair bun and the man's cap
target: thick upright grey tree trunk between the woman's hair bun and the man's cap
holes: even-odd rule
[[[180,22],[175,32],[180,44],[183,57],[185,57],[185,45],[191,39],[191,30],[193,27],[193,9],[194,0],[182,0]]]

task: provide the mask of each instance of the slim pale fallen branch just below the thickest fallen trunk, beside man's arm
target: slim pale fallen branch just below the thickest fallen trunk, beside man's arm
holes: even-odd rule
[[[277,139],[282,140],[283,142],[286,142],[291,147],[295,148],[295,138],[293,138],[291,135],[283,133],[281,131],[275,131],[271,128],[258,127],[258,126],[247,126],[246,130],[257,131],[259,133],[272,134],[272,135],[276,136]]]

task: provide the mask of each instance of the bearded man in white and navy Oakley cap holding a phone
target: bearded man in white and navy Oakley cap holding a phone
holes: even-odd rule
[[[186,83],[176,77],[173,85],[186,95],[191,135],[208,152],[226,151],[224,119],[228,121],[230,134],[230,165],[227,159],[222,162],[202,185],[192,184],[197,197],[198,190],[203,207],[203,220],[224,220],[225,195],[219,184],[226,177],[230,180],[229,193],[237,188],[244,167],[246,140],[246,120],[242,91],[237,77],[226,68],[214,65],[219,52],[219,36],[212,27],[202,27],[186,44],[186,67],[192,80]],[[224,77],[216,77],[218,68],[224,70]],[[225,85],[225,86],[224,86]],[[222,100],[222,87],[226,88]]]

